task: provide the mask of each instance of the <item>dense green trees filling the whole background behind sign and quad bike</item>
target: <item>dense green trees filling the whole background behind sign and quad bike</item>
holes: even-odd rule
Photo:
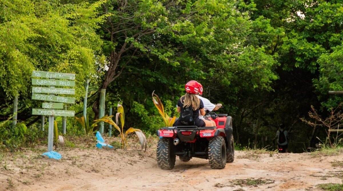
[[[280,124],[290,150],[314,147],[323,128],[301,122],[314,105],[328,115],[342,98],[341,1],[262,0],[0,0],[0,121],[12,115],[28,129],[39,117],[30,109],[33,70],[76,75],[82,112],[85,79],[91,79],[88,112],[98,115],[99,89],[106,112],[124,104],[126,124],[154,133],[163,126],[151,100],[161,98],[169,116],[198,80],[204,97],[223,103],[234,118],[237,143],[272,145]],[[69,132],[79,129],[68,120]],[[31,125],[31,126],[30,126]],[[4,128],[4,127],[2,127]],[[9,129],[9,128],[8,128]],[[1,139],[4,139],[0,136]],[[2,142],[0,139],[0,142]]]

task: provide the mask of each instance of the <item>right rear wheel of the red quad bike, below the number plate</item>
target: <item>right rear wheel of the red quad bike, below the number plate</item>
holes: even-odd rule
[[[223,169],[226,165],[226,145],[224,137],[212,137],[209,141],[209,162],[211,168]]]

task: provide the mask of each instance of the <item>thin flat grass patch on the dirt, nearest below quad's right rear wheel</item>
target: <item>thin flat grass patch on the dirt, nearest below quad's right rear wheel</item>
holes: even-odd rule
[[[240,186],[240,187],[246,187],[246,186],[259,186],[262,184],[271,184],[274,183],[271,179],[255,179],[255,178],[247,178],[247,179],[235,179],[232,181],[229,181],[228,183],[216,183],[213,186],[217,188],[223,188],[223,187],[234,187],[234,186]]]

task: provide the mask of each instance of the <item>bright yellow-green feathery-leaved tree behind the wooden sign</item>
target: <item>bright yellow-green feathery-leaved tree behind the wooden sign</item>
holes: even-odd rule
[[[95,55],[102,41],[95,33],[104,16],[100,2],[65,4],[58,1],[1,0],[0,6],[0,107],[11,105],[18,93],[19,120],[31,117],[31,73],[34,69],[76,74],[77,101],[84,80],[95,76]],[[101,58],[101,57],[99,57]],[[10,109],[2,109],[5,117]],[[4,119],[0,119],[4,120]]]

